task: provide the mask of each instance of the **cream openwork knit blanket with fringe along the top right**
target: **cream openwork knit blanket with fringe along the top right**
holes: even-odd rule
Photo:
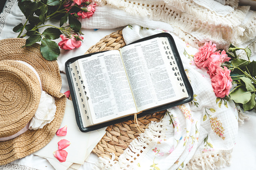
[[[98,0],[94,17],[82,28],[108,29],[137,24],[177,34],[192,47],[207,41],[226,49],[232,43],[256,49],[256,12],[238,0]],[[227,4],[227,5],[222,5]]]

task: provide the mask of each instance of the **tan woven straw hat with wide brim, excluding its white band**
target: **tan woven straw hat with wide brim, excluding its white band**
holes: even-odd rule
[[[0,138],[16,134],[29,123],[40,101],[40,83],[42,89],[55,98],[56,113],[43,128],[28,129],[13,139],[0,141],[0,164],[44,147],[58,130],[65,111],[66,97],[60,93],[57,62],[44,59],[38,44],[24,47],[25,43],[25,39],[18,38],[0,40]],[[34,68],[41,82],[22,62]]]

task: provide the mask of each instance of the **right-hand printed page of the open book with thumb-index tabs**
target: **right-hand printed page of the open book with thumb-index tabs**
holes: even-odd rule
[[[167,38],[131,44],[120,52],[138,112],[188,97]]]

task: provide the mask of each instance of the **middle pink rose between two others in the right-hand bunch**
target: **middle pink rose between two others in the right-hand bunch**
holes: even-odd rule
[[[229,61],[229,57],[227,57],[227,54],[225,50],[223,50],[220,54],[220,51],[213,53],[210,56],[210,61],[208,65],[208,72],[210,74],[210,77],[212,78],[216,74],[217,67],[220,67],[222,63]]]

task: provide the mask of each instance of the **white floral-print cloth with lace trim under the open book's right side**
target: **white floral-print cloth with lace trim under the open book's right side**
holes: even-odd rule
[[[123,29],[123,37],[129,44],[160,32],[131,25]],[[230,164],[238,130],[235,104],[216,103],[207,71],[198,69],[192,59],[197,49],[171,35],[193,87],[194,100],[167,109],[163,120],[151,122],[119,156],[118,162],[100,159],[99,169],[210,169]]]

